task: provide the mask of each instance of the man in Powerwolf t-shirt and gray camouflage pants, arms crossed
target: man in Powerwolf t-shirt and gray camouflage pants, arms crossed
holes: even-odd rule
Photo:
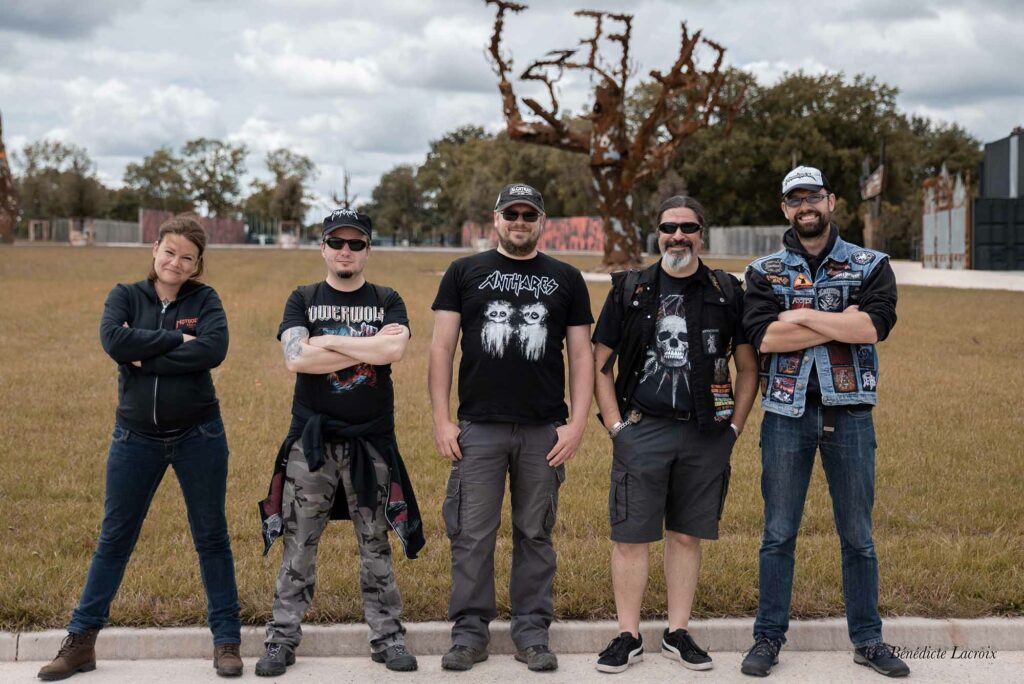
[[[410,558],[424,543],[394,437],[390,365],[406,350],[409,317],[398,293],[362,275],[371,234],[366,214],[339,209],[325,218],[327,277],[297,288],[285,305],[279,338],[285,366],[296,374],[292,424],[260,504],[267,548],[283,533],[285,551],[260,676],[282,675],[295,661],[329,517],[355,525],[371,657],[389,670],[417,668],[404,646],[387,538],[393,528]]]

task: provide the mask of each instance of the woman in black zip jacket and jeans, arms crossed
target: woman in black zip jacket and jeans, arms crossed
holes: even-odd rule
[[[206,232],[194,217],[160,226],[150,276],[106,297],[99,337],[118,362],[117,421],[106,459],[99,542],[69,635],[43,680],[95,669],[97,632],[124,576],[150,502],[170,465],[188,512],[213,632],[214,667],[242,674],[234,561],[224,515],[227,439],[210,369],[227,354],[227,319],[203,273]]]

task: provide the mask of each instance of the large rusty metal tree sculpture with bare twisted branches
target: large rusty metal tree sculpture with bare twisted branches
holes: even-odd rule
[[[540,118],[527,121],[519,112],[509,81],[512,58],[501,52],[505,14],[520,12],[526,5],[506,0],[485,2],[498,10],[488,51],[499,77],[498,90],[502,94],[509,136],[522,142],[590,155],[598,209],[604,221],[604,258],[599,269],[618,270],[640,265],[640,226],[633,213],[634,185],[664,172],[683,140],[708,126],[712,117],[725,120],[728,134],[739,109],[743,92],[732,101],[722,99],[725,48],[701,36],[700,31],[690,35],[684,22],[679,56],[668,72],[650,72],[656,87],[653,105],[631,131],[626,119],[626,96],[633,16],[580,10],[577,16],[594,19],[594,35],[580,41],[584,47],[553,50],[545,58],[534,61],[519,77],[544,83],[551,98],[551,106],[545,109],[536,99],[523,97],[522,103]],[[606,22],[615,22],[622,29],[618,33],[604,35]],[[621,45],[622,59],[617,65],[607,65],[599,58],[598,43],[602,37]],[[700,69],[696,63],[694,53],[701,44],[711,48],[716,57],[710,69]],[[583,54],[578,54],[581,51]],[[565,70],[571,69],[589,71],[594,81],[594,103],[587,116],[589,130],[572,127],[559,116],[555,86]]]

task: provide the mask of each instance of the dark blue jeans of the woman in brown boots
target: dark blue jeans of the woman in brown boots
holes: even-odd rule
[[[213,643],[241,641],[234,560],[224,516],[227,439],[219,418],[170,439],[145,437],[114,426],[106,457],[103,524],[69,632],[83,634],[106,625],[111,602],[168,465],[174,468],[184,495]]]

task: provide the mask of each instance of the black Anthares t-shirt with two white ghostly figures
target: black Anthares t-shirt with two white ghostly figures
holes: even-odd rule
[[[546,254],[497,250],[452,262],[432,308],[462,315],[459,418],[549,423],[568,418],[562,341],[594,323],[580,270]]]

